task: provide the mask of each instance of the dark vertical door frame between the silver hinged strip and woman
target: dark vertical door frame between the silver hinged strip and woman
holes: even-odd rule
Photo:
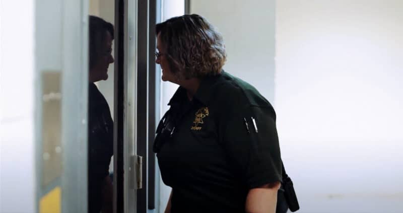
[[[160,70],[155,64],[155,26],[161,19],[161,0],[138,1],[137,155],[143,156],[143,189],[137,193],[137,212],[155,209],[156,161],[153,141],[160,119]],[[157,209],[158,210],[158,209]]]

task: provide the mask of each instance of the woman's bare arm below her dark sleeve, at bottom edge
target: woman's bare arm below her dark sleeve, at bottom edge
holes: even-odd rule
[[[274,182],[250,189],[246,197],[245,211],[248,213],[275,213],[279,188],[280,182]]]

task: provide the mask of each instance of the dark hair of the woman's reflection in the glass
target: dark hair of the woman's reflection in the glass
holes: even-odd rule
[[[99,17],[89,16],[89,66],[90,69],[97,63],[101,53],[100,46],[106,37],[106,32],[113,36],[113,25]]]

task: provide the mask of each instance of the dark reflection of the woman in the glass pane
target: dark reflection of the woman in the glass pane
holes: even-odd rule
[[[112,212],[112,181],[109,164],[113,155],[113,121],[108,103],[94,82],[108,79],[113,63],[113,25],[89,17],[88,91],[88,212]]]

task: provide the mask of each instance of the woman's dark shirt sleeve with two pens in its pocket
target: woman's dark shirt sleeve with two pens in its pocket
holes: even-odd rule
[[[275,119],[271,106],[242,107],[226,119],[224,149],[249,189],[282,180]]]

